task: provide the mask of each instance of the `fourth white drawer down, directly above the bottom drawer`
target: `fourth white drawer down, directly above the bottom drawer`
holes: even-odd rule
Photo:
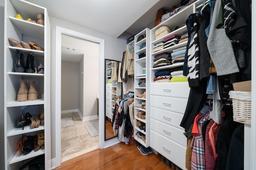
[[[183,134],[184,131],[181,129],[172,127],[171,125],[167,125],[155,119],[150,119],[150,129],[162,134],[166,138],[174,140],[184,147],[187,146],[187,138]]]

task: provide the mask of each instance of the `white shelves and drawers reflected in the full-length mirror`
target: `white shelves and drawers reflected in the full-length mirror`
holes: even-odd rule
[[[112,122],[115,98],[121,95],[121,83],[111,80],[114,63],[119,61],[106,60],[106,117]],[[110,83],[107,83],[110,81]]]

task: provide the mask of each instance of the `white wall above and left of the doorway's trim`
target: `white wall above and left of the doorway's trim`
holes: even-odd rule
[[[81,21],[83,22],[83,21]],[[84,21],[86,22],[86,21]],[[63,20],[59,20],[57,18],[50,17],[50,24],[51,24],[51,127],[52,127],[52,133],[51,133],[51,141],[52,141],[52,159],[54,159],[55,156],[55,65],[56,65],[56,57],[55,57],[55,51],[56,51],[56,26],[60,26],[62,28],[67,28],[69,30],[74,30],[76,32],[81,32],[83,34],[87,34],[90,36],[94,36],[97,38],[101,38],[104,40],[105,44],[105,51],[104,55],[105,58],[108,59],[114,59],[120,61],[123,51],[126,50],[126,40],[121,40],[118,38],[114,38],[111,36],[108,36],[106,34],[102,34],[100,32],[96,32],[94,30],[90,30],[88,28],[84,28],[78,25],[71,24],[69,22],[65,22]],[[104,113],[99,113],[104,114]]]

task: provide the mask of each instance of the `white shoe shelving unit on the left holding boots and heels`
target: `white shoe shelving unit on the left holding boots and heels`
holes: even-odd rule
[[[31,18],[37,20],[37,14],[44,14],[44,26],[26,21]],[[20,14],[24,20],[15,18]],[[13,47],[8,38],[26,43],[33,41],[44,51]],[[5,0],[5,20],[4,20],[4,152],[5,169],[17,170],[24,163],[44,155],[45,169],[51,168],[51,143],[50,143],[50,22],[47,10],[44,7],[26,2],[24,0]],[[35,67],[39,63],[44,65],[44,74],[40,73],[17,73],[14,71],[16,61],[16,50],[24,54],[34,54]],[[38,64],[36,64],[38,63]],[[42,96],[34,101],[17,101],[17,94],[20,89],[20,80],[36,82],[37,91]],[[44,112],[44,125],[30,129],[30,126],[16,128],[16,123],[21,115],[29,112],[31,115],[38,115]],[[30,152],[29,154],[17,155],[17,142],[23,135],[34,136],[44,131],[44,149]]]

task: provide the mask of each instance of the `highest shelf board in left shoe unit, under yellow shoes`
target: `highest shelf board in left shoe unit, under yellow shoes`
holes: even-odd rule
[[[19,28],[22,35],[44,39],[44,26],[9,16],[12,23]]]

